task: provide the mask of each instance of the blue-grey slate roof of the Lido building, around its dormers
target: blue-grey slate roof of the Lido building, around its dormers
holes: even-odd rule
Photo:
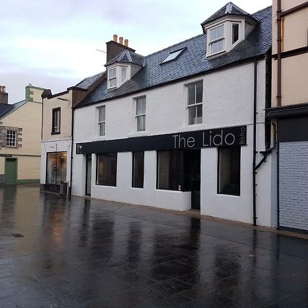
[[[242,40],[228,53],[215,58],[206,58],[207,36],[206,34],[200,34],[147,55],[144,58],[144,66],[119,88],[107,90],[107,80],[105,79],[76,107],[114,99],[140,90],[146,90],[146,88],[176,81],[177,79],[206,73],[209,70],[222,68],[222,66],[227,66],[234,62],[264,55],[272,45],[272,7],[260,10],[252,16],[259,23],[245,40]],[[177,60],[160,65],[172,51],[183,47],[187,47],[187,49],[179,55]]]

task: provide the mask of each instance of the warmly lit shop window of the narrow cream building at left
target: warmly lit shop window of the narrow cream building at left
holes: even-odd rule
[[[46,183],[60,185],[66,181],[66,152],[47,153]]]

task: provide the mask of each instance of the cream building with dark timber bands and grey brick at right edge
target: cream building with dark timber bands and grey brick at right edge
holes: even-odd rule
[[[308,1],[274,0],[272,104],[279,228],[308,231]]]

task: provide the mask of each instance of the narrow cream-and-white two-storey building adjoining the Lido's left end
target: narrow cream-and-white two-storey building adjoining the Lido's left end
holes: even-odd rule
[[[70,187],[72,153],[72,106],[84,99],[101,79],[103,73],[88,77],[64,92],[42,93],[42,148],[40,189],[60,192],[60,183]]]

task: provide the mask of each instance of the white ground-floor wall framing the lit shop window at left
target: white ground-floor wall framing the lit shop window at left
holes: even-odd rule
[[[42,154],[40,158],[40,183],[46,183],[46,159],[49,152],[67,152],[66,181],[70,182],[70,139],[42,140]],[[69,184],[70,185],[70,184]]]

